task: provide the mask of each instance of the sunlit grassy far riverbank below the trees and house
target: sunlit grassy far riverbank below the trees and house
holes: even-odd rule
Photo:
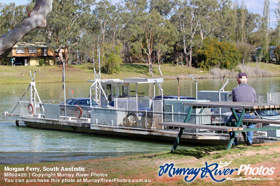
[[[256,66],[256,63],[249,63],[248,66]],[[280,65],[260,63],[259,67],[262,70],[271,72],[273,76],[280,75]],[[154,78],[170,79],[190,79],[191,75],[197,79],[221,78],[222,75],[212,75],[207,71],[202,71],[198,68],[192,68],[182,65],[160,65],[163,77],[160,76],[157,66],[154,66]],[[61,83],[63,65],[53,66],[1,66],[0,68],[0,84],[24,84],[31,81],[30,73],[34,75],[36,71],[36,83]],[[226,73],[229,75],[229,73]],[[235,75],[235,73],[234,73]],[[94,80],[93,64],[82,65],[67,65],[65,69],[66,82],[86,82]],[[248,75],[249,76],[249,75]],[[121,71],[111,75],[101,73],[102,79],[123,79],[123,78],[149,78],[149,67],[146,64],[122,64]],[[253,77],[250,75],[249,77]],[[230,77],[227,77],[230,78]]]

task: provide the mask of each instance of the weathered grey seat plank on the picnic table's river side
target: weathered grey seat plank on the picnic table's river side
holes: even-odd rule
[[[169,126],[169,127],[192,128],[192,129],[207,129],[207,130],[216,130],[216,131],[225,131],[225,132],[233,132],[233,131],[243,130],[242,127],[199,125],[199,124],[179,123],[179,122],[165,122],[165,123],[159,123],[158,125]]]

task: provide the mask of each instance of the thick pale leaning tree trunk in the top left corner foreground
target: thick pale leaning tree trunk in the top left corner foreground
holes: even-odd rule
[[[53,0],[37,0],[30,16],[0,37],[0,55],[12,48],[24,35],[33,29],[47,26],[46,16],[52,9],[52,2]]]

